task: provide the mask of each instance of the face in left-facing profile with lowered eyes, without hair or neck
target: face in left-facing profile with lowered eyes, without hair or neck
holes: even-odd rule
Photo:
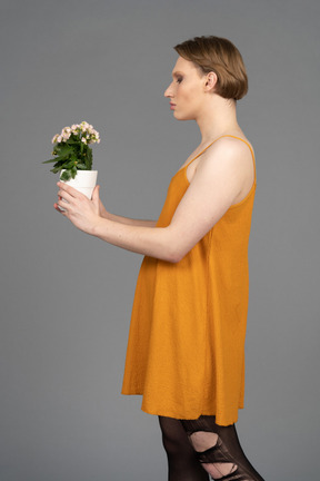
[[[203,109],[206,75],[191,61],[179,57],[172,71],[172,82],[164,97],[178,120],[193,120]]]

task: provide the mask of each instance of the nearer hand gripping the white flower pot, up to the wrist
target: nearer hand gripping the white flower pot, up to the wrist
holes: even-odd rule
[[[53,205],[56,210],[67,217],[80,230],[92,234],[93,227],[101,220],[100,216],[100,186],[96,186],[92,199],[73,187],[59,181],[58,203]]]

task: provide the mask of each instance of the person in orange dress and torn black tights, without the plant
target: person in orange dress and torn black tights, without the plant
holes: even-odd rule
[[[253,149],[237,119],[247,72],[223,38],[174,49],[164,97],[176,119],[196,120],[201,143],[172,177],[159,219],[109,213],[98,186],[89,200],[58,183],[54,208],[84,233],[144,256],[122,393],[141,394],[142,410],[159,416],[169,481],[261,481],[236,431],[256,193]]]

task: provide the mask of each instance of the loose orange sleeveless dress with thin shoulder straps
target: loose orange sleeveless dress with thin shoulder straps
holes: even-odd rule
[[[186,420],[216,415],[218,424],[228,425],[243,408],[256,161],[251,146],[238,139],[250,148],[254,165],[248,195],[180,262],[146,256],[141,264],[122,394],[142,394],[141,409],[150,414]],[[157,227],[170,224],[196,158],[172,177]]]

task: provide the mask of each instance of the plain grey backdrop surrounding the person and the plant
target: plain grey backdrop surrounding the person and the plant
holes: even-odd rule
[[[101,197],[157,218],[199,141],[163,90],[177,42],[230,38],[256,147],[247,397],[238,432],[266,480],[319,475],[318,0],[1,2],[1,481],[166,479],[154,416],[120,395],[141,262],[56,213],[41,161],[87,120]]]

